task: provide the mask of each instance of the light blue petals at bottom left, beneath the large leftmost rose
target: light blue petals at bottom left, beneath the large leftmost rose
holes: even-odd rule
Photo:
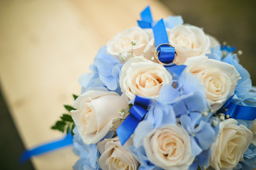
[[[85,145],[82,138],[79,136],[77,127],[74,128],[74,147],[73,152],[80,157],[74,164],[74,170],[93,170],[100,169],[98,165],[99,151],[95,144]]]

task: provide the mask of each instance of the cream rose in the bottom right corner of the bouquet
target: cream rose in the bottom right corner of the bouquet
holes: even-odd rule
[[[219,125],[216,142],[211,145],[209,165],[216,170],[233,169],[243,157],[252,141],[252,132],[235,119],[224,120]]]

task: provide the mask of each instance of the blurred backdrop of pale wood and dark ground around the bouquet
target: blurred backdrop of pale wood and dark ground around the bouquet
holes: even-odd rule
[[[136,25],[150,5],[155,20],[181,15],[220,42],[243,51],[240,63],[256,86],[256,1],[0,0],[0,162],[2,169],[72,169],[72,148],[35,157],[25,148],[62,137],[50,126],[79,94],[79,75],[102,45]]]

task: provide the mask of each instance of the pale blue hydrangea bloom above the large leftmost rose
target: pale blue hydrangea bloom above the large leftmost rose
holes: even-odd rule
[[[83,74],[79,78],[82,93],[91,88],[103,86],[120,94],[119,74],[121,67],[122,64],[116,57],[108,55],[106,46],[101,47],[94,58],[94,63],[90,66],[92,73]]]

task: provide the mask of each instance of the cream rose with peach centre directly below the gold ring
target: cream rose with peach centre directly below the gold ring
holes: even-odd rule
[[[123,64],[119,80],[121,91],[130,99],[135,95],[158,96],[162,85],[171,81],[165,67],[143,57],[133,57]]]

